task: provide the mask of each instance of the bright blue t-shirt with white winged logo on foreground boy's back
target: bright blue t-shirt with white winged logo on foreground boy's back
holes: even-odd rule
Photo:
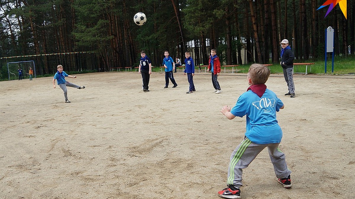
[[[246,115],[245,136],[253,143],[280,143],[282,129],[276,119],[276,112],[279,112],[283,105],[269,89],[266,89],[261,97],[249,90],[238,98],[230,112],[241,118]]]

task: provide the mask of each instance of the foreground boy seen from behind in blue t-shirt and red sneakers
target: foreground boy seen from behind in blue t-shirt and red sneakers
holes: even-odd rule
[[[264,149],[268,148],[278,182],[290,188],[291,171],[288,169],[285,154],[278,148],[282,130],[276,120],[276,112],[284,108],[283,102],[274,92],[266,88],[270,75],[268,67],[252,64],[248,71],[250,87],[237,100],[231,109],[224,106],[221,110],[228,119],[246,115],[245,139],[234,149],[230,156],[227,188],[218,192],[222,198],[240,198],[242,169],[245,169]]]

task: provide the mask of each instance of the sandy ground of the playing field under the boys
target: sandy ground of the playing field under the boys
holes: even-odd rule
[[[248,87],[245,74],[187,76],[150,92],[137,72],[79,74],[86,89],[52,87],[52,78],[0,82],[0,198],[218,199],[231,152],[244,138],[245,118],[228,120]],[[355,198],[354,76],[295,74],[296,97],[272,75],[267,86],[285,104],[278,113],[293,187],[277,183],[267,150],[244,170],[247,198]]]

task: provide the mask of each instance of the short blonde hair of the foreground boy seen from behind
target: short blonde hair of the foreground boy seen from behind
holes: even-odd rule
[[[265,84],[270,76],[270,69],[263,64],[251,64],[248,76],[253,84]]]

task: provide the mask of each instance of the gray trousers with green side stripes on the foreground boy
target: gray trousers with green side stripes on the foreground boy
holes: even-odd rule
[[[233,184],[235,187],[241,187],[243,169],[256,158],[256,156],[264,149],[268,148],[271,163],[274,166],[277,178],[285,178],[291,174],[287,168],[285,154],[278,148],[279,143],[272,144],[255,144],[248,138],[245,138],[237,148],[234,149],[230,156],[228,169],[227,184]]]

